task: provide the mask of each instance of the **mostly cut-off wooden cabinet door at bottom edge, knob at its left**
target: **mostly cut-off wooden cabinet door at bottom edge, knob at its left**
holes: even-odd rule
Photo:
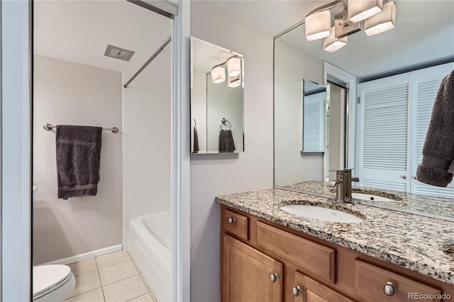
[[[295,272],[295,302],[353,302],[314,279]],[[299,286],[299,287],[298,287]]]

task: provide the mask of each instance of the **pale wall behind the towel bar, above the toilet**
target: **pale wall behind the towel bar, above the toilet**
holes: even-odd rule
[[[33,262],[40,264],[121,244],[121,72],[35,55],[33,103]],[[96,196],[57,199],[52,125],[103,131]]]

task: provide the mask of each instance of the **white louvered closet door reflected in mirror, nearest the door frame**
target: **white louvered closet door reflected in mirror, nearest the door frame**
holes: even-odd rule
[[[410,79],[408,74],[399,74],[360,84],[360,186],[409,189]]]

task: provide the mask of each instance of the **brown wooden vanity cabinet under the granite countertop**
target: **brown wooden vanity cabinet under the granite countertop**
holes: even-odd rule
[[[411,300],[454,286],[221,205],[221,301]]]

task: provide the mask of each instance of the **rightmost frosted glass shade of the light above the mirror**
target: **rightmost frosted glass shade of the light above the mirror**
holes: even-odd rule
[[[378,35],[387,30],[394,28],[396,25],[396,6],[394,2],[387,2],[383,6],[383,10],[375,16],[365,19],[362,30],[367,37]]]

